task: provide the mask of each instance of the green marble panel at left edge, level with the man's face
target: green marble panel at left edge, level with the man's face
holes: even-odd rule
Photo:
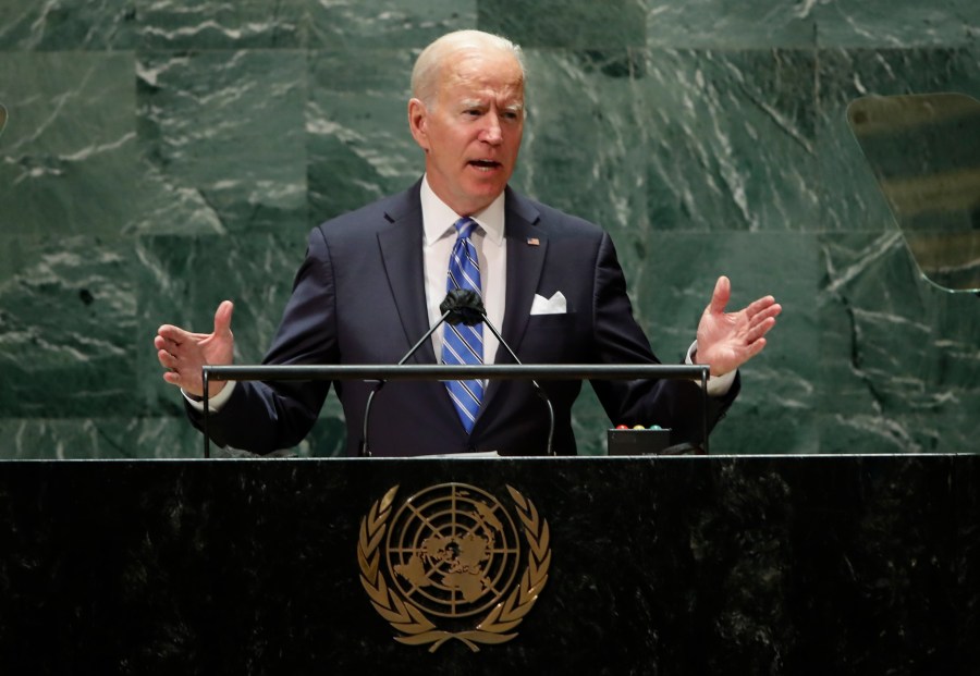
[[[113,235],[131,218],[131,53],[12,52],[0,60],[2,235]]]

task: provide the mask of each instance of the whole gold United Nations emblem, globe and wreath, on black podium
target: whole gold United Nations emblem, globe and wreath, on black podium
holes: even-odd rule
[[[434,652],[456,639],[476,652],[516,637],[551,564],[535,505],[510,486],[513,509],[477,487],[441,483],[395,509],[397,491],[371,505],[357,541],[360,581],[395,640]]]

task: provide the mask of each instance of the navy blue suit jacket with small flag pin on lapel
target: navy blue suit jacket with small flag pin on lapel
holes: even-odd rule
[[[507,284],[500,331],[524,364],[657,364],[633,318],[623,271],[599,226],[506,192]],[[537,244],[529,243],[536,242]],[[564,315],[530,315],[535,294],[561,291]],[[396,364],[428,330],[419,184],[314,229],[306,260],[265,364]],[[434,364],[430,341],[417,364]],[[503,347],[498,364],[512,362]],[[575,453],[572,404],[581,383],[544,381],[555,411],[554,448]],[[328,382],[240,382],[209,420],[222,445],[269,453],[296,445],[316,421]],[[592,382],[614,423],[671,428],[672,442],[701,438],[701,392],[687,381]],[[371,385],[335,383],[356,455]],[[711,397],[709,425],[734,400]],[[198,425],[200,416],[189,410]],[[392,381],[372,404],[376,456],[470,451],[541,454],[548,414],[530,383],[490,381],[470,434],[440,382]],[[600,433],[599,430],[596,430]]]

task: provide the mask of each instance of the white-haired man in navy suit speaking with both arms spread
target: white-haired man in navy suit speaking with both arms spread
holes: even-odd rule
[[[427,47],[412,73],[408,126],[425,174],[408,190],[313,230],[269,365],[392,365],[433,325],[448,291],[480,294],[488,320],[523,364],[657,364],[633,318],[612,241],[598,225],[538,204],[507,186],[524,130],[520,50],[477,30]],[[736,369],[765,345],[780,306],[771,296],[725,312],[720,278],[689,358],[710,364],[709,426],[738,392]],[[203,407],[200,369],[232,362],[232,303],[212,333],[160,327],[155,339],[167,382],[180,386],[192,421]],[[482,324],[443,324],[415,364],[513,362]],[[597,381],[616,423],[672,429],[698,443],[701,392],[689,381]],[[267,454],[296,445],[317,419],[329,382],[211,382],[209,429],[222,445]],[[362,446],[375,385],[335,383],[347,452]],[[572,404],[581,383],[548,381],[554,450],[575,453]],[[371,407],[376,456],[544,452],[549,416],[527,381],[393,381]]]

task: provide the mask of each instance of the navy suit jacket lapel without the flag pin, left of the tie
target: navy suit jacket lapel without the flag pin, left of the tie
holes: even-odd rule
[[[384,213],[392,225],[378,233],[384,274],[399,308],[399,319],[408,345],[415,345],[429,330],[418,190],[419,184],[416,184],[392,201]],[[431,341],[426,341],[409,361],[434,364],[436,353]]]

